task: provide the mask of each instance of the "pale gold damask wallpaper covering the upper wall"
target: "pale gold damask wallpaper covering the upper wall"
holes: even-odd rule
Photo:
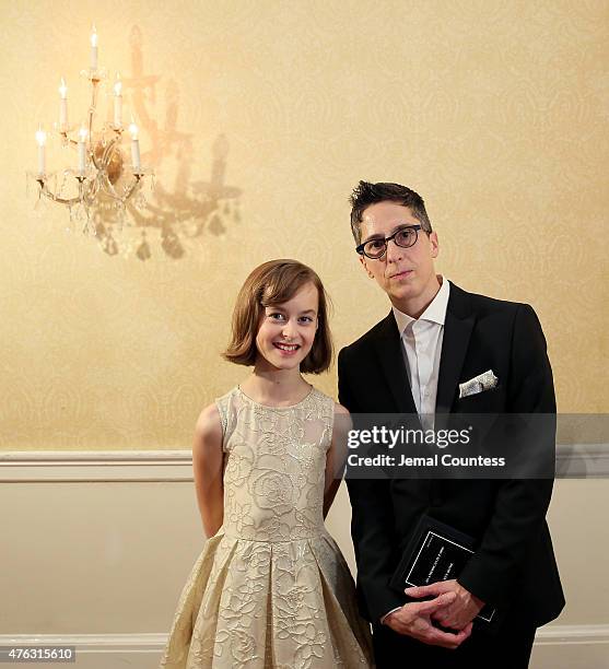
[[[13,0],[0,22],[1,449],[188,448],[244,373],[219,353],[269,258],[313,265],[353,340],[387,310],[349,236],[360,178],[425,197],[453,281],[535,306],[562,411],[609,409],[606,0]],[[84,117],[92,23],[156,174],[115,256],[25,190],[60,77]],[[75,160],[49,141],[49,168]]]

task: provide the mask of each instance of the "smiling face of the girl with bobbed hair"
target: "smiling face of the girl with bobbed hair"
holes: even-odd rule
[[[256,364],[297,369],[315,340],[318,303],[317,287],[305,283],[288,302],[265,307],[256,336]]]

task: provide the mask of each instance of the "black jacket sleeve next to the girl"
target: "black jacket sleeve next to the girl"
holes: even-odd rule
[[[349,368],[348,351],[338,356],[339,401],[351,413],[358,413],[356,388]],[[358,594],[361,612],[372,623],[391,609],[401,607],[406,597],[388,587],[397,567],[397,536],[389,481],[350,479],[347,488],[351,501],[351,535],[358,563]]]

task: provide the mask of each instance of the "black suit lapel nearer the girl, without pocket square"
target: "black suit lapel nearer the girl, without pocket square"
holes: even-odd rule
[[[380,322],[375,347],[383,375],[391,390],[398,412],[417,413],[403,364],[400,333],[393,312]]]

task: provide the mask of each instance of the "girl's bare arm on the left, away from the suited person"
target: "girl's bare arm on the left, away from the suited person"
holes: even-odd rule
[[[195,429],[192,470],[203,529],[213,537],[224,518],[222,422],[215,404],[206,407]]]

